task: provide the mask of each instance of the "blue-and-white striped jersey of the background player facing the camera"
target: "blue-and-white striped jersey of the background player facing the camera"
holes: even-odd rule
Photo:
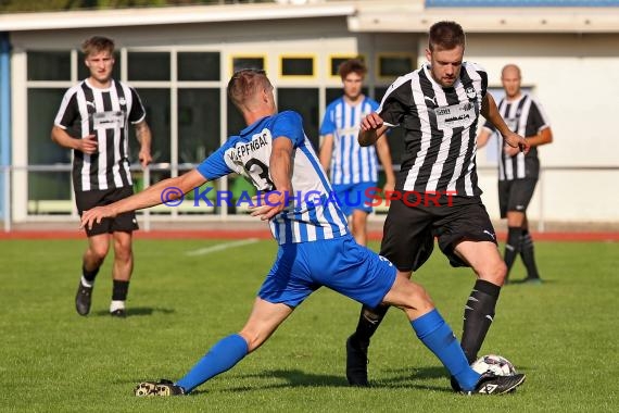
[[[379,104],[365,97],[355,105],[338,98],[327,107],[320,126],[320,135],[333,135],[331,157],[331,184],[358,184],[378,182],[378,161],[372,146],[361,147],[357,141],[361,121],[375,112]]]

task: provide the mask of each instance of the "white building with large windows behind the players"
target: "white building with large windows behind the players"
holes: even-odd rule
[[[86,76],[79,45],[87,37],[116,41],[116,76],[135,86],[147,107],[156,164],[146,176],[137,173],[142,183],[182,173],[242,128],[225,93],[235,68],[265,68],[279,108],[301,112],[317,145],[325,107],[341,90],[337,65],[363,57],[367,93],[379,99],[397,75],[425,60],[426,33],[440,20],[463,25],[466,59],[488,70],[493,92],[501,91],[501,67],[517,63],[523,86],[551,117],[555,142],[540,149],[543,174],[529,216],[619,223],[619,1],[555,2],[589,7],[313,0],[0,15],[0,160],[11,171],[0,184],[5,227],[76,220],[70,151],[49,133],[64,91]],[[395,162],[401,136],[390,137]],[[484,203],[498,217],[494,158],[482,151],[478,164]],[[218,185],[244,188],[233,178]],[[233,209],[205,205],[155,212],[150,220],[245,218]]]

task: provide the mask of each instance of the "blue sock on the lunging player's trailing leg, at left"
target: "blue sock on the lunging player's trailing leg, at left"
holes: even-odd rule
[[[211,377],[232,368],[247,354],[244,338],[238,334],[223,338],[176,385],[190,392]]]

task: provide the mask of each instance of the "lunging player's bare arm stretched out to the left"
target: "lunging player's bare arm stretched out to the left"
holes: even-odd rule
[[[192,170],[187,174],[168,178],[148,187],[147,189],[104,206],[97,206],[81,214],[81,228],[92,228],[92,224],[99,224],[101,220],[114,217],[129,211],[141,210],[159,205],[164,201],[173,201],[191,189],[206,183],[206,178]]]

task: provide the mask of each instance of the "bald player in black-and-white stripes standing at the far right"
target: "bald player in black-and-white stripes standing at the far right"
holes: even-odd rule
[[[541,283],[533,239],[529,233],[527,206],[533,197],[540,176],[538,147],[553,141],[553,132],[540,102],[520,89],[520,68],[508,64],[501,71],[501,83],[505,97],[498,102],[498,112],[509,128],[527,137],[531,150],[525,154],[516,148],[498,142],[498,208],[501,217],[507,217],[507,242],[503,259],[507,265],[507,277],[518,253],[527,267],[525,283]],[[477,137],[478,148],[483,147],[494,135],[495,127],[487,122]]]

